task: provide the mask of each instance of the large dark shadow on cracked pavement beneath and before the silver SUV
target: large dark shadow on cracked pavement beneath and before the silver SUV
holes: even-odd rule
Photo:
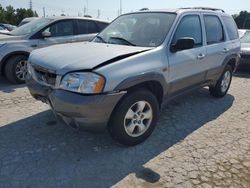
[[[233,102],[232,95],[211,98],[206,89],[176,99],[163,107],[151,137],[135,147],[117,144],[107,132],[79,132],[55,123],[51,111],[4,125],[0,187],[110,187],[132,172],[157,182],[160,175],[143,165],[218,118]]]

